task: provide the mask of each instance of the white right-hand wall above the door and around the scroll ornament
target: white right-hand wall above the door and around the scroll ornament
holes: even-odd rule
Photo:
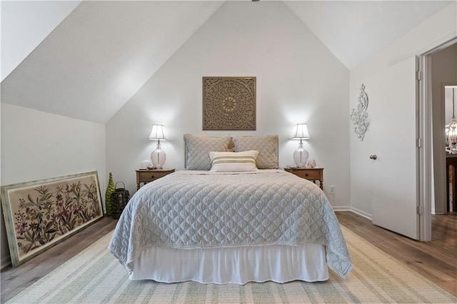
[[[376,71],[386,69],[411,56],[423,54],[435,46],[457,36],[456,3],[427,19],[373,59],[351,70],[350,108],[356,108],[359,88],[364,79]],[[363,39],[363,37],[361,37]],[[368,112],[370,108],[368,106]],[[371,129],[368,128],[364,141],[353,134],[350,136],[351,155],[351,208],[371,216],[371,171],[367,165],[371,151]],[[411,172],[411,174],[416,174]]]

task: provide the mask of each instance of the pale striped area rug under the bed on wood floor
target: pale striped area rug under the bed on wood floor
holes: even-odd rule
[[[8,303],[457,303],[457,298],[342,227],[354,268],[321,283],[131,281],[106,250],[111,233]]]

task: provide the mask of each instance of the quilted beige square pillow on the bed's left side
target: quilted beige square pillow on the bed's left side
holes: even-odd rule
[[[209,153],[211,151],[227,151],[230,136],[226,137],[202,137],[184,134],[184,144],[186,145],[186,169],[187,170],[206,170],[211,169]]]

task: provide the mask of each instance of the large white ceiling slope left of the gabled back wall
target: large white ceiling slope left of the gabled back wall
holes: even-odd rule
[[[223,1],[83,1],[1,83],[1,101],[106,123]]]

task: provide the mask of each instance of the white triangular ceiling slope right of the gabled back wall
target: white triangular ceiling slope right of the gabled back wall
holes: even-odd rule
[[[353,69],[454,1],[285,3],[336,58]]]

